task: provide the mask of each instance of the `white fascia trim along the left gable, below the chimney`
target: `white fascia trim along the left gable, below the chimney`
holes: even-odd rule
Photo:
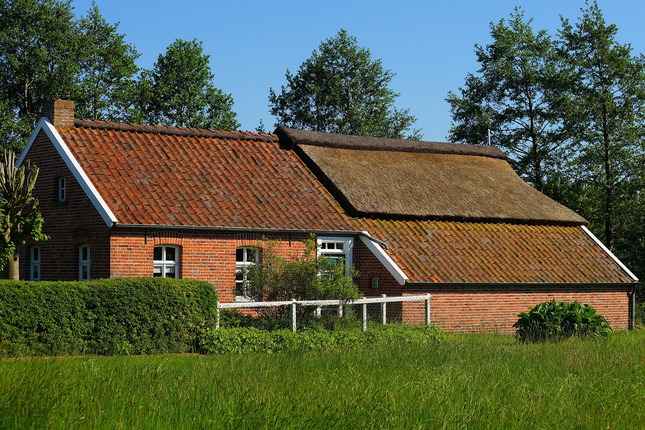
[[[81,165],[79,165],[78,161],[76,161],[76,159],[72,155],[72,151],[70,151],[70,148],[68,148],[64,143],[63,138],[61,138],[61,135],[58,134],[56,128],[48,118],[43,116],[43,118],[38,121],[38,125],[36,126],[32,137],[29,139],[27,145],[25,146],[25,149],[20,154],[20,157],[15,163],[15,166],[19,167],[23,163],[23,161],[25,161],[27,152],[29,152],[29,149],[32,147],[32,144],[34,143],[34,140],[36,136],[38,136],[40,130],[45,130],[45,134],[54,144],[54,148],[56,148],[58,153],[61,155],[68,169],[72,171],[74,178],[76,178],[79,184],[81,184],[81,188],[83,188],[85,194],[87,194],[87,196],[90,198],[90,201],[92,201],[92,204],[94,204],[96,210],[99,211],[99,214],[101,214],[103,221],[105,221],[108,227],[113,227],[115,223],[117,223],[117,218],[114,216],[112,210],[110,210],[108,205],[106,205],[105,201],[101,197],[101,194],[99,194],[97,189],[94,187],[92,181],[90,181],[90,178],[88,178],[88,176],[85,174],[85,172],[81,168]]]

